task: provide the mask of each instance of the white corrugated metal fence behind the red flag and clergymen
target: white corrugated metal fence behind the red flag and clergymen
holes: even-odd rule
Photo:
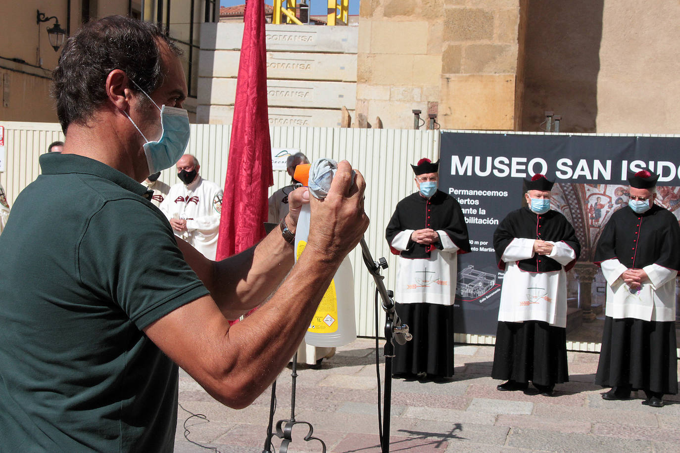
[[[52,123],[2,122],[0,126],[5,128],[6,152],[5,172],[0,173],[0,183],[12,206],[19,192],[39,175],[39,156],[47,152],[50,143],[63,140],[63,134],[60,126]],[[364,237],[374,259],[386,257],[388,260],[389,268],[384,271],[385,285],[388,289],[394,288],[396,259],[385,240],[385,228],[396,203],[416,190],[409,164],[424,157],[437,160],[439,131],[272,126],[269,133],[273,148],[285,148],[291,153],[301,151],[310,161],[322,157],[346,159],[360,170],[367,181],[365,209],[371,219]],[[201,162],[201,176],[220,185],[224,185],[226,177],[230,137],[231,126],[191,125],[191,140],[186,152],[197,156]],[[165,170],[160,179],[170,185],[178,182],[174,168]],[[275,170],[270,194],[289,183],[290,177],[285,171]],[[354,268],[357,334],[374,336],[375,283],[364,267],[360,247],[350,254],[350,259]],[[379,335],[382,335],[384,313],[382,310],[379,313]],[[461,337],[458,341],[486,344],[493,341],[489,336]]]

